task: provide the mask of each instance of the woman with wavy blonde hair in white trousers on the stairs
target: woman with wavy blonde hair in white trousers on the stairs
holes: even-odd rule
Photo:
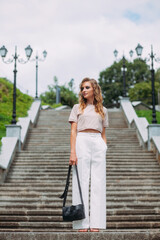
[[[105,128],[108,112],[102,105],[101,88],[96,80],[85,78],[80,84],[79,104],[72,108],[70,165],[77,165],[86,218],[73,221],[79,232],[106,229],[106,151]],[[72,204],[79,204],[76,171],[72,173]],[[91,179],[90,179],[91,177]],[[91,180],[89,216],[89,180]]]

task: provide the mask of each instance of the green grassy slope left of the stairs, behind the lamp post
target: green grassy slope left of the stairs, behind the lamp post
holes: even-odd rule
[[[27,94],[23,94],[19,89],[17,89],[16,93],[16,116],[18,120],[18,117],[27,116],[27,111],[33,102],[33,98]],[[6,133],[5,124],[11,123],[12,111],[13,84],[5,78],[0,78],[0,140]]]

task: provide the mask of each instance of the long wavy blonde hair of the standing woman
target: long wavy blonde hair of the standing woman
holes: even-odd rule
[[[82,88],[82,85],[84,82],[91,83],[91,86],[93,88],[93,94],[94,94],[93,104],[95,105],[95,112],[99,113],[101,115],[102,119],[104,119],[104,111],[103,111],[103,104],[102,104],[103,97],[102,97],[101,87],[99,86],[97,81],[92,78],[91,79],[84,78],[79,85],[80,92],[79,92],[78,96],[79,96],[80,109],[82,110],[82,113],[87,104],[87,99],[83,97],[83,94],[81,91],[81,88]]]

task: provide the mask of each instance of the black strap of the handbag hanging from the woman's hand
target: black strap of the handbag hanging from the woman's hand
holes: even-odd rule
[[[63,207],[65,206],[65,203],[66,203],[66,198],[67,198],[67,193],[68,193],[68,188],[69,188],[69,183],[70,183],[69,182],[69,178],[70,178],[71,168],[72,168],[72,165],[69,165],[68,175],[67,175],[67,180],[66,180],[66,186],[65,186],[63,194],[60,196],[60,198],[64,198],[64,200],[63,200]],[[84,205],[83,198],[82,198],[82,191],[81,191],[80,181],[79,181],[79,176],[78,176],[77,165],[75,165],[75,168],[76,168],[76,175],[77,175],[77,181],[78,181],[78,188],[79,188],[80,198],[81,198],[82,204]]]

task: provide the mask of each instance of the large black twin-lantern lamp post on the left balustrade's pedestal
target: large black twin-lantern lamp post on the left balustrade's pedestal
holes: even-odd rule
[[[19,55],[17,55],[17,46],[15,46],[15,54],[12,55],[12,58],[5,61],[5,57],[7,55],[8,50],[5,48],[5,46],[0,48],[0,55],[2,57],[2,60],[6,64],[10,64],[14,61],[14,85],[13,85],[13,114],[12,114],[12,121],[11,124],[16,124],[16,76],[17,76],[17,61],[21,64],[25,64],[29,61],[31,55],[32,55],[32,48],[30,45],[25,48],[25,53],[27,60],[23,60],[22,58],[19,59]]]

